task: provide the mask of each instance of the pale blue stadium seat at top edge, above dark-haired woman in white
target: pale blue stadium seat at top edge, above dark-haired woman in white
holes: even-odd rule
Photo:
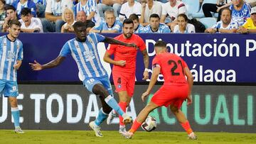
[[[182,0],[182,2],[186,6],[188,17],[190,17],[192,13],[197,13],[200,9],[199,0]]]

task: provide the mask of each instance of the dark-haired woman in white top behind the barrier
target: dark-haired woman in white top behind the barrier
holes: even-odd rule
[[[186,14],[179,14],[177,21],[178,25],[174,27],[174,33],[196,33],[195,26],[188,23],[188,16]]]

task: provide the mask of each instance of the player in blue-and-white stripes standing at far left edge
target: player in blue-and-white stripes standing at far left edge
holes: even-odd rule
[[[14,118],[16,133],[24,133],[19,126],[19,110],[17,70],[23,60],[23,45],[18,40],[21,23],[18,20],[9,21],[9,34],[0,37],[0,93],[9,98],[11,115]]]

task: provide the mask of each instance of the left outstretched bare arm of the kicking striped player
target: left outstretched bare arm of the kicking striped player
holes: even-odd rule
[[[36,62],[36,60],[34,63],[29,63],[29,65],[31,65],[32,70],[43,70],[57,67],[61,62],[63,62],[63,60],[65,60],[65,57],[58,56],[55,58],[55,60],[52,60],[45,65],[41,65],[40,63]]]

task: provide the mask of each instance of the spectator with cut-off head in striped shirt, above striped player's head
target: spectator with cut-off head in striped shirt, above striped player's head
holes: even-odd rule
[[[91,20],[95,24],[100,24],[101,19],[99,11],[97,10],[96,0],[81,0],[74,7],[75,16],[77,15],[78,11],[85,11],[87,20]]]

